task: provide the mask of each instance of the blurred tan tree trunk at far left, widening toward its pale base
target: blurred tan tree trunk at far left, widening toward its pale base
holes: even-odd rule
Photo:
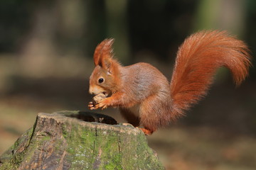
[[[55,3],[39,3],[33,11],[31,33],[27,35],[21,53],[23,74],[31,77],[43,77],[51,74],[56,57],[56,45],[53,41],[58,17]]]

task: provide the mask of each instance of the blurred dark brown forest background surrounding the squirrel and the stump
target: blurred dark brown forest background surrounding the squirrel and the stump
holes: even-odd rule
[[[149,62],[171,79],[178,45],[203,29],[228,30],[254,56],[256,1],[0,1],[0,154],[39,112],[88,111],[92,55],[105,38],[122,64]],[[117,110],[97,112],[124,122]],[[255,68],[239,88],[219,69],[208,96],[149,145],[166,169],[255,169],[255,113]]]

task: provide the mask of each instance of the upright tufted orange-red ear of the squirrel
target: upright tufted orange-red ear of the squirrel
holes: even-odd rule
[[[97,45],[95,49],[95,53],[93,56],[93,60],[95,63],[95,66],[100,65],[101,67],[105,67],[107,63],[105,63],[106,60],[111,60],[112,58],[112,44],[114,42],[114,39],[105,39],[102,42],[100,42],[99,45]],[[107,61],[106,61],[107,62]]]

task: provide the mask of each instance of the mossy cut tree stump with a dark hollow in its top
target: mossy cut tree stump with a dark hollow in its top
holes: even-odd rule
[[[164,169],[132,125],[80,111],[38,113],[0,157],[0,169]]]

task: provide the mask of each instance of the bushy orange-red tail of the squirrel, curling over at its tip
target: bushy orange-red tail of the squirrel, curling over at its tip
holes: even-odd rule
[[[173,118],[206,95],[216,69],[230,69],[239,85],[250,64],[247,45],[225,31],[201,31],[186,38],[178,49],[171,78]]]

